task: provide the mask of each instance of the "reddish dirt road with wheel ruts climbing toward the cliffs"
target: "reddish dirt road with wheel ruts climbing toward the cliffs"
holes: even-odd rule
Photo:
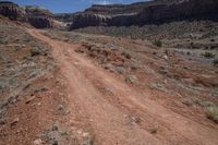
[[[138,92],[118,81],[76,53],[74,50],[80,45],[50,39],[35,29],[28,32],[51,46],[60,75],[65,77],[69,106],[76,108],[77,114],[71,119],[81,117],[81,121],[89,125],[95,144],[218,144],[218,128],[203,125],[165,108],[149,99],[149,89]]]

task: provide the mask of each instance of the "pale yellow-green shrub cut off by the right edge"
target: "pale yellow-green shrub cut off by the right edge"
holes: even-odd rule
[[[217,106],[207,107],[205,109],[205,112],[208,119],[218,123],[218,107]]]

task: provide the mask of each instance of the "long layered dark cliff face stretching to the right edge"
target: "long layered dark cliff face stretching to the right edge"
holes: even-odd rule
[[[70,29],[202,19],[218,20],[217,0],[155,0],[129,5],[93,5],[83,13],[74,15]]]

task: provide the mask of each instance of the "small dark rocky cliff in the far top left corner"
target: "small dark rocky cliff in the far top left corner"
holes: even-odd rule
[[[22,9],[13,2],[1,1],[0,14],[11,20],[22,20],[25,15],[25,12],[22,11]]]

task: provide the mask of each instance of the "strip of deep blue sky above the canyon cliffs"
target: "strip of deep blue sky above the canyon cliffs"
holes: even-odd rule
[[[1,0],[0,0],[1,1]],[[19,5],[39,5],[53,13],[71,13],[83,11],[94,3],[132,3],[146,0],[11,0]]]

